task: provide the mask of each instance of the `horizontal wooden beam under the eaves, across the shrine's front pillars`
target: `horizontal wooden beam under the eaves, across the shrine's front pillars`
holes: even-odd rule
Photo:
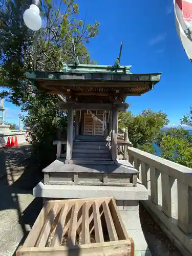
[[[112,110],[126,111],[129,108],[127,103],[73,103],[73,102],[60,102],[58,106],[63,110]]]

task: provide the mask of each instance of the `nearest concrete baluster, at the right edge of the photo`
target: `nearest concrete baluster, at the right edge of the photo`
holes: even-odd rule
[[[185,233],[192,233],[192,187],[177,181],[178,226]]]

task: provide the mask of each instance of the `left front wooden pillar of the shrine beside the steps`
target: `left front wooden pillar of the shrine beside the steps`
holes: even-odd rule
[[[67,154],[66,160],[72,158],[73,151],[73,109],[68,110],[68,130],[67,130]]]

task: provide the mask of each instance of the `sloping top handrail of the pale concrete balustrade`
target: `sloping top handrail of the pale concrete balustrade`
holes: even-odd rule
[[[169,175],[181,183],[192,187],[192,169],[184,165],[174,163],[172,161],[163,159],[158,156],[154,156],[150,153],[138,150],[135,147],[128,147],[128,155],[139,159],[156,169],[159,169],[162,173]]]

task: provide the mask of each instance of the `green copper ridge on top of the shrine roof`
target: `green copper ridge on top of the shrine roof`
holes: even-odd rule
[[[117,74],[132,74],[130,71],[132,66],[108,66],[108,65],[92,65],[79,64],[68,65],[63,63],[63,68],[60,72],[66,73],[117,73]]]

